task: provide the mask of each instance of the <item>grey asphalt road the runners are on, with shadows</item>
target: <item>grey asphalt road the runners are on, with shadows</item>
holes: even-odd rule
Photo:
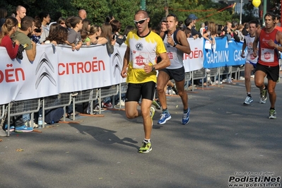
[[[127,119],[123,110],[79,116],[42,133],[11,133],[0,142],[0,187],[221,188],[235,172],[281,176],[281,86],[277,119],[268,119],[269,100],[259,104],[253,82],[248,106],[243,81],[189,91],[187,125],[180,97],[168,96],[172,119],[158,125],[161,110],[155,111],[150,153],[138,153],[142,119]]]

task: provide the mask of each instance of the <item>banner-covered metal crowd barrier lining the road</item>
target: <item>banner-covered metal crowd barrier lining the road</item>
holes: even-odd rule
[[[203,39],[188,41],[192,52],[183,57],[187,81],[206,78],[206,69],[215,77],[242,71],[233,69],[245,64],[240,57],[242,42],[217,38],[216,49],[208,49]],[[121,99],[127,90],[127,83],[120,76],[126,48],[124,44],[115,45],[109,56],[105,45],[81,47],[74,52],[66,45],[37,45],[35,61],[30,62],[25,53],[23,60],[10,59],[6,49],[0,47],[0,90],[6,91],[0,98],[0,117],[7,112],[9,127],[12,116],[30,113],[33,119],[40,107],[44,118],[45,110],[64,107],[66,112],[71,102],[74,110],[78,103],[90,102],[93,114],[96,100],[100,104],[102,98],[118,94]],[[78,95],[73,96],[76,92]]]

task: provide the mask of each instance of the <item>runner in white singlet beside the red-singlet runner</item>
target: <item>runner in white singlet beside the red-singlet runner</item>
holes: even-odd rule
[[[244,43],[242,45],[242,54],[241,57],[245,58],[245,49],[247,47],[247,57],[245,63],[245,87],[247,91],[247,97],[245,99],[244,105],[249,105],[254,100],[251,95],[251,74],[257,66],[257,57],[253,55],[253,42],[254,37],[256,35],[258,23],[256,20],[252,20],[249,22],[249,35],[245,36]]]

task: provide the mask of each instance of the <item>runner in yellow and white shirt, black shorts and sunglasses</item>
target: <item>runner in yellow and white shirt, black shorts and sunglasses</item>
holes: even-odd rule
[[[127,77],[127,94],[125,100],[125,114],[133,119],[143,117],[145,137],[139,153],[148,153],[152,150],[151,131],[155,109],[151,107],[155,90],[156,69],[164,69],[170,65],[168,54],[161,37],[148,28],[150,17],[146,11],[137,11],[134,23],[137,30],[129,32],[125,44],[122,78]],[[155,56],[159,55],[162,61],[155,63]],[[141,110],[137,110],[139,99],[142,97]]]

